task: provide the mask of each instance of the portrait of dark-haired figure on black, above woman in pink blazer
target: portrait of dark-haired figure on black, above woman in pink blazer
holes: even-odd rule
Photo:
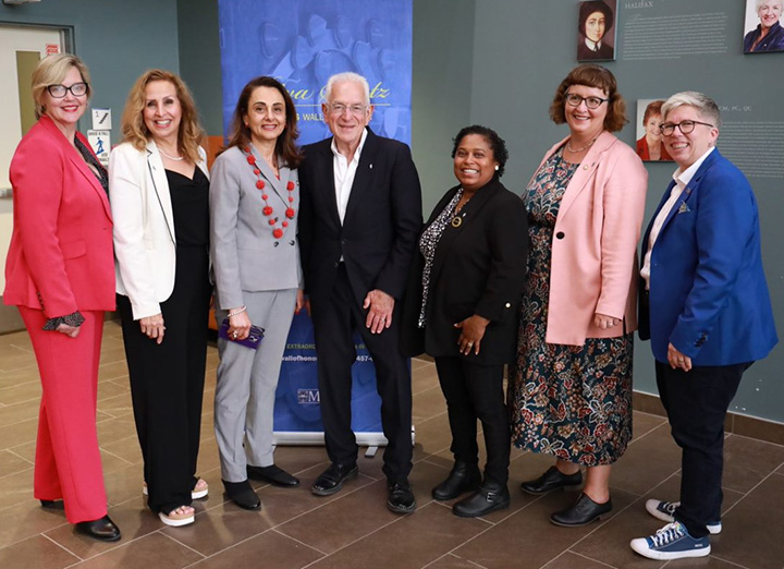
[[[577,61],[615,59],[615,14],[617,0],[579,3],[577,19]]]

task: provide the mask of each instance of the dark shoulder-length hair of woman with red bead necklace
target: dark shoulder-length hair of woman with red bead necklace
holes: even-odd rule
[[[289,92],[281,82],[266,75],[252,78],[240,93],[236,107],[232,114],[231,134],[226,148],[231,148],[232,146],[243,147],[250,143],[250,129],[245,124],[245,116],[248,113],[250,95],[253,95],[253,92],[258,87],[277,89],[283,97],[286,111],[286,124],[275,142],[275,154],[283,157],[289,168],[296,168],[303,159],[303,155],[296,145],[296,140],[299,137],[299,131],[296,125],[296,108],[294,107],[291,95],[289,95]]]

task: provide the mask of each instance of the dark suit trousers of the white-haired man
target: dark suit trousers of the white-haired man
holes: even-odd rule
[[[408,476],[412,468],[411,373],[399,348],[400,305],[395,303],[392,325],[381,334],[365,326],[367,311],[352,293],[348,275],[341,264],[329,299],[313,304],[321,421],[327,453],[332,462],[353,464],[357,444],[351,427],[352,364],[356,360],[353,334],[359,330],[376,366],[376,385],[381,397],[381,426],[389,444],[383,472],[390,481]]]

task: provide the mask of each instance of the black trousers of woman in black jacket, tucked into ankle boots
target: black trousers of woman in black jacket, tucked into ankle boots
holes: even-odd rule
[[[503,365],[477,365],[461,358],[436,358],[456,461],[479,461],[477,419],[487,449],[485,481],[506,485],[511,432],[503,392]]]

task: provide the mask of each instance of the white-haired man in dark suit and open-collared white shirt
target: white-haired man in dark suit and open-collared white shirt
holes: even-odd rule
[[[327,453],[332,464],[310,488],[340,491],[357,474],[351,428],[351,367],[358,329],[376,365],[381,425],[389,444],[387,506],[412,512],[412,392],[399,347],[400,300],[421,229],[419,177],[408,146],[367,129],[368,83],[341,73],[327,83],[322,111],[331,138],[305,146],[299,167],[299,242],[309,295]]]

